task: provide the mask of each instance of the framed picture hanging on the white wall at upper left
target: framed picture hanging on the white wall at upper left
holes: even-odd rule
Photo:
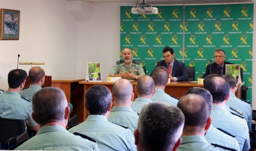
[[[18,40],[20,37],[20,11],[1,9],[1,40]]]

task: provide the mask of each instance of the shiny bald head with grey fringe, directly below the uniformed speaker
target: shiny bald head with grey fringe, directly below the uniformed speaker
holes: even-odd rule
[[[126,103],[132,98],[133,87],[129,80],[124,78],[117,80],[113,86],[113,96],[115,102]]]

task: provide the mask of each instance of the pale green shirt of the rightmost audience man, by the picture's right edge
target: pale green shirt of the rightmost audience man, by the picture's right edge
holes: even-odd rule
[[[252,131],[252,107],[250,104],[240,100],[239,98],[236,97],[236,95],[232,92],[230,92],[230,97],[228,101],[226,102],[226,106],[235,108],[239,111],[242,112],[248,128],[249,132]]]

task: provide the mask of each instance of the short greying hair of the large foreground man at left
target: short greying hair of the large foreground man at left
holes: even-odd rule
[[[64,120],[67,106],[66,95],[60,88],[42,88],[32,98],[32,111],[42,125]]]

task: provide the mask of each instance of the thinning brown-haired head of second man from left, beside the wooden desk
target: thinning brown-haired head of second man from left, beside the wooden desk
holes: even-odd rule
[[[28,73],[28,76],[32,84],[37,84],[40,82],[40,79],[45,76],[44,69],[41,67],[32,67]]]

